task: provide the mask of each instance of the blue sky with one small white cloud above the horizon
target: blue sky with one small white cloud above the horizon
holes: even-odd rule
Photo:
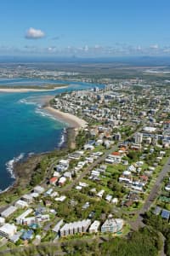
[[[1,0],[0,56],[170,55],[169,0]]]

